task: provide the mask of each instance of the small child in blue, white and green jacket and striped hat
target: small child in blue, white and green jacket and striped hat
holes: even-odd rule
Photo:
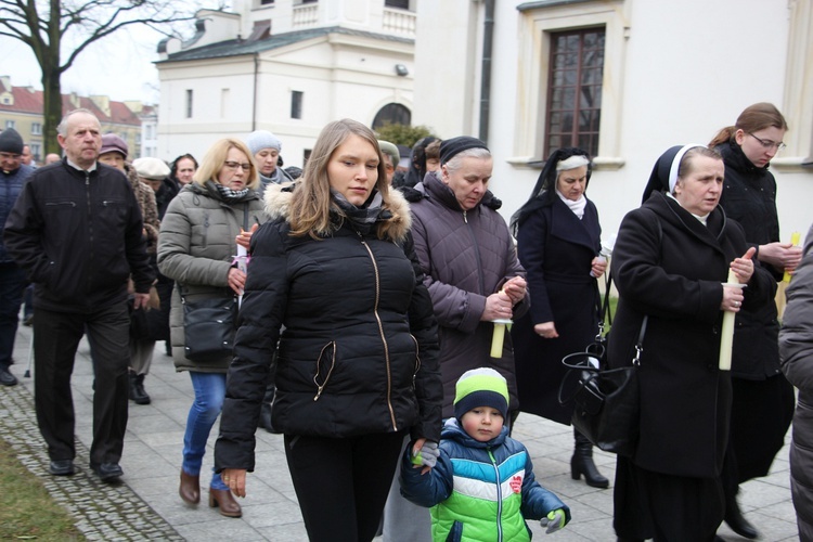
[[[401,468],[401,494],[431,507],[435,541],[522,541],[526,519],[541,519],[546,532],[570,521],[570,508],[533,477],[528,450],[503,426],[508,387],[493,369],[467,371],[457,380],[454,417],[440,446],[409,447]]]

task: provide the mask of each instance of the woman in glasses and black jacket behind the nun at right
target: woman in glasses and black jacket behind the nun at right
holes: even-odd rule
[[[725,182],[720,206],[745,229],[757,258],[780,281],[801,259],[801,249],[779,241],[776,180],[771,159],[785,147],[788,126],[770,103],[746,107],[734,126],[723,128],[709,143],[723,156]],[[774,284],[774,288],[776,284]],[[730,446],[723,466],[725,521],[741,537],[757,530],[741,515],[736,494],[739,483],[765,476],[793,415],[793,388],[779,370],[779,323],[773,299],[743,307],[737,314],[732,359]]]

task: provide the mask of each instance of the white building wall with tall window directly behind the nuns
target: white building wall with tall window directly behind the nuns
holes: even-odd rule
[[[813,221],[811,21],[809,0],[422,2],[412,120],[441,138],[485,127],[506,218],[551,147],[590,150],[588,195],[611,244],[666,149],[772,102],[790,126],[771,163],[789,241]]]

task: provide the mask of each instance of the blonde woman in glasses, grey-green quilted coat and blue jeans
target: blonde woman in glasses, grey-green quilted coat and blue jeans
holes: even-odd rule
[[[192,182],[184,185],[167,208],[158,243],[158,269],[176,281],[169,315],[172,358],[177,371],[189,371],[195,401],[186,418],[181,464],[181,499],[201,501],[201,465],[209,431],[223,405],[225,373],[232,357],[209,362],[184,356],[183,307],[188,301],[231,299],[242,294],[246,274],[233,264],[236,243],[247,246],[251,225],[266,220],[255,189],[259,176],[248,147],[238,140],[222,139],[206,153]],[[209,506],[220,514],[240,517],[240,504],[219,474],[212,474]]]

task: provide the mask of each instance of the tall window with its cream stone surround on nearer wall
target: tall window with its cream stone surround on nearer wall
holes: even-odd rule
[[[555,137],[585,146],[603,170],[621,168],[623,94],[607,74],[624,72],[623,1],[525,2],[517,10],[524,76],[514,101],[514,156],[506,160],[518,167],[544,162]]]

